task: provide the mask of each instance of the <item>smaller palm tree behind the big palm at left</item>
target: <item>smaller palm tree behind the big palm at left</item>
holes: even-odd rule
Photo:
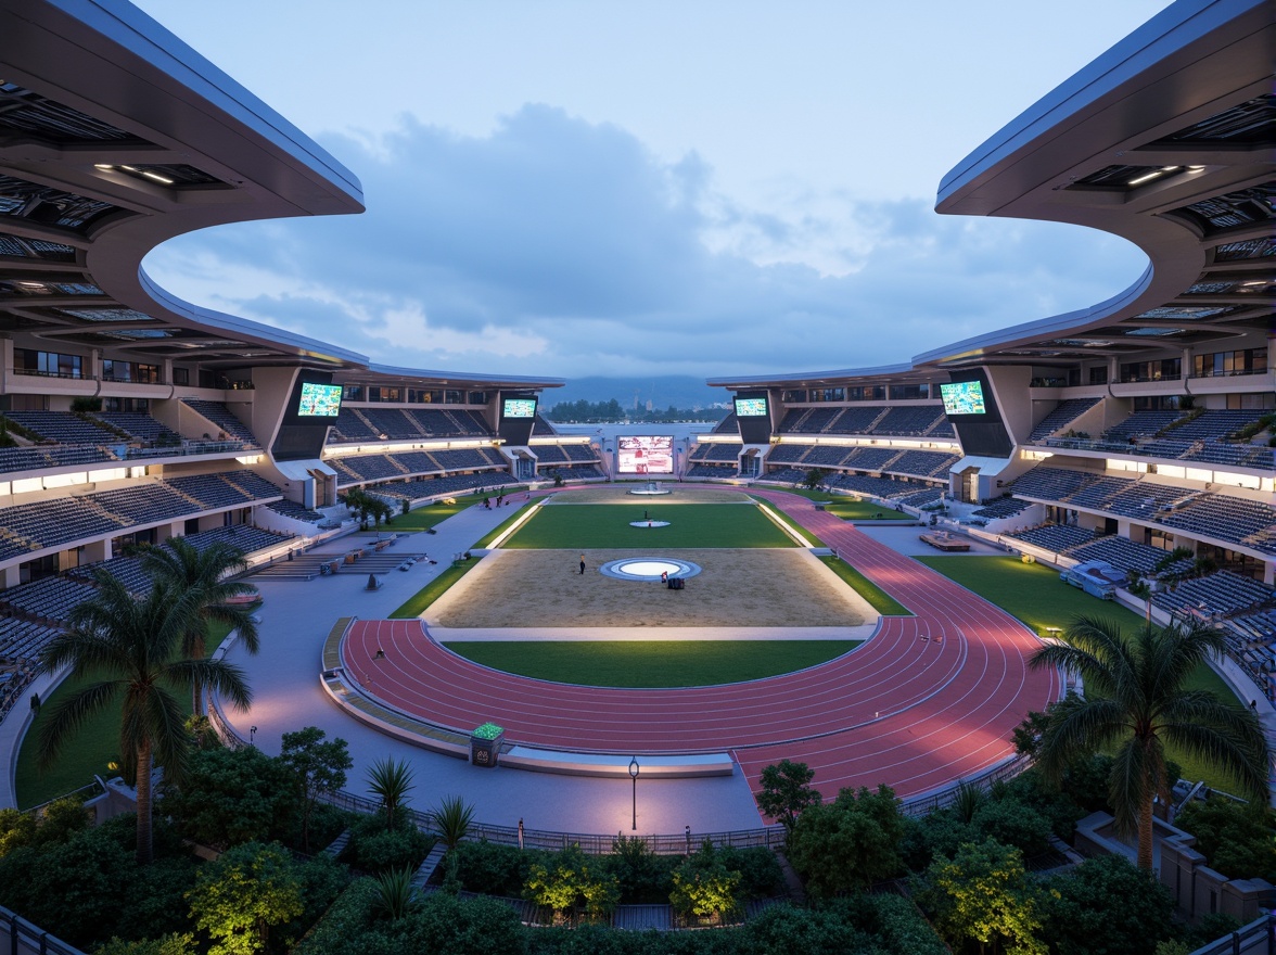
[[[172,538],[163,546],[148,549],[142,566],[153,581],[188,595],[197,605],[197,614],[182,635],[182,654],[193,660],[204,659],[208,624],[214,620],[237,629],[248,652],[256,654],[260,649],[253,606],[228,603],[234,598],[256,594],[251,583],[230,580],[231,575],[248,567],[242,550],[219,540],[200,550],[185,538]],[[204,712],[203,691],[203,682],[197,678],[191,684],[191,712]]]

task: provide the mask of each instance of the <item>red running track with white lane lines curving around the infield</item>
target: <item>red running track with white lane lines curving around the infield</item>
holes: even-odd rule
[[[1011,730],[1059,695],[1032,672],[1036,637],[1005,612],[792,494],[762,492],[915,617],[887,617],[860,649],[798,673],[717,687],[619,689],[528,679],[464,660],[420,620],[359,620],[347,673],[389,706],[514,743],[572,752],[729,751],[754,790],[772,762],[815,770],[832,797],[887,783],[900,797],[979,774],[1013,752]],[[376,660],[376,650],[387,659]]]

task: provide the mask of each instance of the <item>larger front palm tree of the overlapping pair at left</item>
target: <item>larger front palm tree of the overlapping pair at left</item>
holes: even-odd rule
[[[137,855],[145,864],[152,858],[152,766],[158,762],[168,779],[180,779],[190,748],[185,714],[170,687],[185,689],[199,681],[241,710],[248,709],[251,693],[237,666],[182,656],[182,640],[199,615],[197,595],[156,582],[149,592],[134,596],[103,571],[94,573],[94,581],[97,594],[71,610],[69,629],[50,642],[40,669],[55,673],[69,666],[73,678],[102,679],[47,711],[37,757],[42,767],[50,766],[77,730],[122,695],[120,753],[137,766]]]

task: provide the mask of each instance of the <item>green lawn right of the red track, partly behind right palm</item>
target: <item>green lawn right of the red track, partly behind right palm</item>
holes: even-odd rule
[[[1039,635],[1046,627],[1067,627],[1078,614],[1091,614],[1116,620],[1131,632],[1146,626],[1142,615],[1119,604],[1099,600],[1059,580],[1059,572],[1041,564],[1026,564],[1017,557],[921,557],[916,558],[939,573],[972,590],[991,604],[1014,614]],[[1210,666],[1202,664],[1188,679],[1189,689],[1208,689],[1220,700],[1243,705],[1231,687]],[[1166,755],[1183,767],[1184,779],[1205,780],[1215,789],[1235,793],[1236,784],[1206,762],[1174,747]]]

